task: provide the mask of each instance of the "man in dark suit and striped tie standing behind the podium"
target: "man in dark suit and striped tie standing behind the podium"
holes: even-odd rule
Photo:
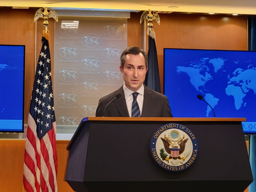
[[[122,52],[120,60],[124,85],[100,98],[96,116],[172,117],[168,98],[143,84],[148,71],[146,52],[138,47],[128,47]],[[115,97],[117,99],[113,100]]]

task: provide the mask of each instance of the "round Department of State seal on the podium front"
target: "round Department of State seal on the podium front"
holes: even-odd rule
[[[198,142],[186,126],[168,123],[154,132],[150,152],[154,161],[169,171],[182,171],[190,167],[198,156]]]

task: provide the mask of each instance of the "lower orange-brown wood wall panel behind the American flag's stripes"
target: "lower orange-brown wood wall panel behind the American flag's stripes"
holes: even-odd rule
[[[22,191],[23,165],[25,140],[0,140],[0,191]],[[57,184],[60,192],[73,192],[67,182],[64,182],[64,174],[68,151],[66,147],[69,141],[57,141],[58,175]]]

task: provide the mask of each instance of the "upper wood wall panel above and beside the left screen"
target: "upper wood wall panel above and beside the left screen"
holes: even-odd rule
[[[25,45],[25,95],[24,123],[28,123],[28,111],[35,74],[35,23],[36,10],[0,10],[0,44]]]

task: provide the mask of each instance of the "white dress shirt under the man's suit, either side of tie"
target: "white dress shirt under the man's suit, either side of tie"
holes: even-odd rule
[[[127,109],[129,112],[129,116],[132,116],[132,102],[133,102],[133,91],[128,89],[125,85],[123,86],[124,88],[124,96],[125,96],[125,100],[126,100],[126,105],[127,105]],[[142,113],[142,106],[143,106],[143,100],[144,100],[144,85],[142,85],[140,87],[140,89],[138,91],[136,91],[138,94],[137,96],[137,102],[140,108],[140,115]]]

